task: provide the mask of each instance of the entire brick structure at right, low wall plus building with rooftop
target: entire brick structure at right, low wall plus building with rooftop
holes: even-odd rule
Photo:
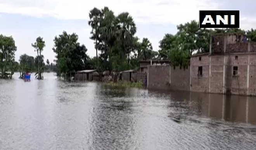
[[[194,55],[188,69],[147,66],[148,88],[256,95],[256,42],[242,34],[214,34],[209,49]]]

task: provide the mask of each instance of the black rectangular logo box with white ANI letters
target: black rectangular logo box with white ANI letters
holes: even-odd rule
[[[230,19],[228,19],[228,24],[202,24],[206,15],[211,15],[213,21],[216,23],[216,15],[220,15],[224,18],[224,15],[234,15],[235,24],[230,24]],[[199,28],[239,28],[239,10],[199,10]]]

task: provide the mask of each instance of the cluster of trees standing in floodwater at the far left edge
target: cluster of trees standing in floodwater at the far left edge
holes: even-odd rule
[[[37,53],[36,57],[29,56],[26,53],[19,57],[19,62],[15,61],[15,52],[17,47],[12,36],[4,36],[0,34],[0,78],[12,78],[14,72],[20,72],[20,78],[24,76],[24,72],[35,72],[36,79],[43,79],[43,72],[57,71],[55,64],[49,62],[44,63],[44,56],[42,55],[45,41],[40,36],[36,38],[36,42],[31,46]]]

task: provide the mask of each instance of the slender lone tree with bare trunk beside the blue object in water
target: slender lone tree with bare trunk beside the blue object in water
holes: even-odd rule
[[[43,62],[42,62],[42,60],[43,60],[43,56],[42,56],[42,51],[43,51],[43,48],[45,47],[45,41],[43,41],[43,38],[42,37],[38,37],[38,38],[36,38],[36,42],[33,44],[31,44],[31,46],[33,47],[33,48],[35,48],[35,52],[37,52],[37,60],[38,60],[38,70],[37,70],[37,72],[36,72],[36,78],[37,79],[43,79],[43,67],[44,67],[44,65],[43,65]]]

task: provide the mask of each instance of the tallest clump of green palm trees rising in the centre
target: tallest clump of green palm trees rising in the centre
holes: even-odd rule
[[[96,60],[102,63],[98,64],[97,68],[103,70],[112,69],[113,71],[129,69],[132,67],[130,58],[133,57],[135,49],[137,49],[135,48],[137,41],[134,37],[137,29],[133,18],[128,12],[115,16],[114,12],[109,10],[108,7],[104,7],[101,10],[94,8],[93,10],[94,13],[91,11],[90,15],[94,14],[94,18],[97,19],[91,19],[89,23],[92,27],[90,39],[97,39],[95,47],[100,51],[100,55],[99,59],[96,57]],[[97,34],[95,33],[96,29]]]

